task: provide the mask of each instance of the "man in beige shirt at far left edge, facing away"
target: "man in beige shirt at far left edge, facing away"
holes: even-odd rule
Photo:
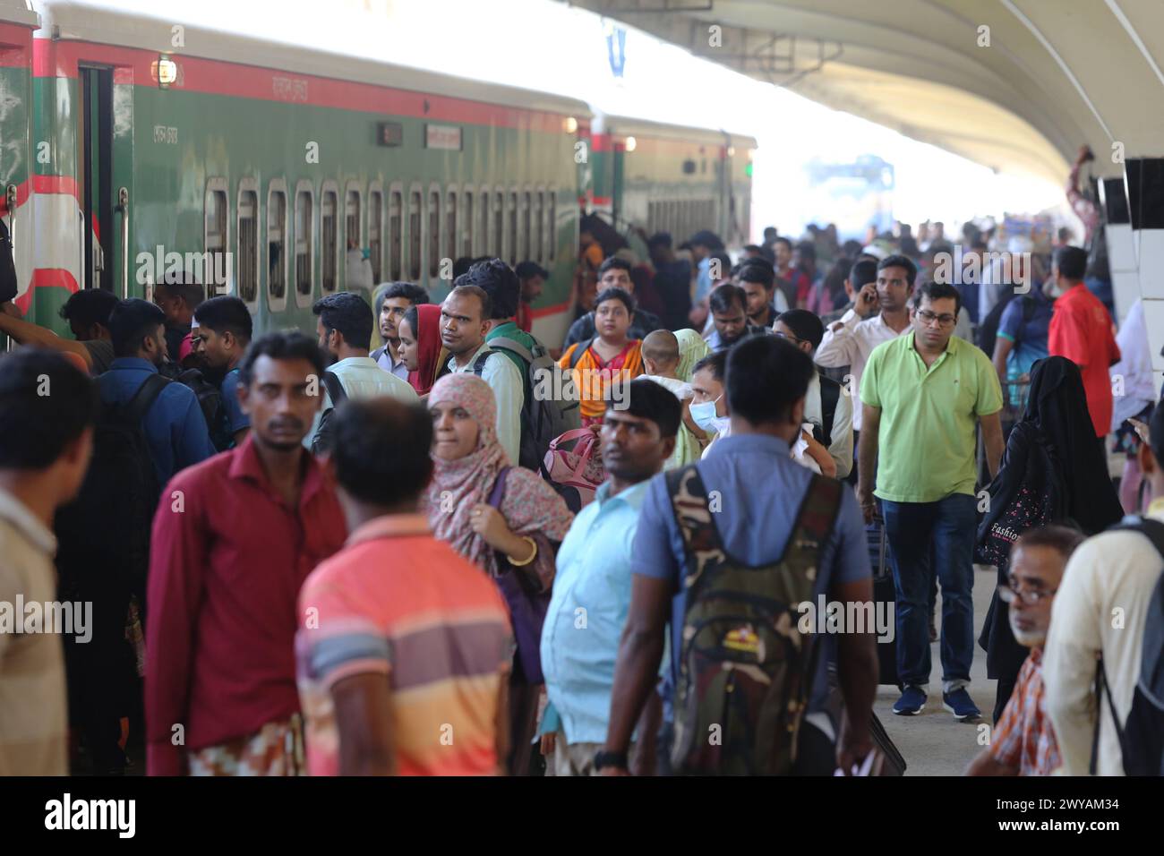
[[[26,617],[56,603],[52,518],[85,479],[97,410],[97,387],[65,355],[0,359],[0,603],[14,620],[0,623],[0,777],[69,773],[61,634],[81,634],[79,610],[51,631]]]

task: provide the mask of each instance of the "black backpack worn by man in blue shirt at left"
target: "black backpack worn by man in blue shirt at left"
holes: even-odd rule
[[[101,403],[80,493],[57,511],[63,579],[113,574],[144,602],[150,529],[162,486],[142,419],[168,383],[151,374],[129,401]]]

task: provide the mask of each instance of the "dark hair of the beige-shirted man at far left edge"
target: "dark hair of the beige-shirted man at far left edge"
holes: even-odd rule
[[[62,353],[27,347],[0,358],[0,468],[48,468],[99,406],[97,384]]]

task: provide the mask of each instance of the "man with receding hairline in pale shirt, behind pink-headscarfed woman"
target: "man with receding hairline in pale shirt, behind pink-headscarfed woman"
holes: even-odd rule
[[[453,354],[449,372],[473,372],[497,398],[497,440],[514,466],[521,460],[521,406],[525,383],[517,366],[485,342],[492,302],[477,285],[457,285],[440,307],[440,340]]]

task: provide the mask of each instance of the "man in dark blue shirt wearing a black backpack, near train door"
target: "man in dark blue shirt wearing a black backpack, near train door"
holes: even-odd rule
[[[97,379],[101,401],[128,402],[166,355],[165,313],[152,303],[132,297],[109,313],[114,360]],[[158,483],[215,453],[198,397],[182,383],[165,384],[146,411],[142,424]]]

